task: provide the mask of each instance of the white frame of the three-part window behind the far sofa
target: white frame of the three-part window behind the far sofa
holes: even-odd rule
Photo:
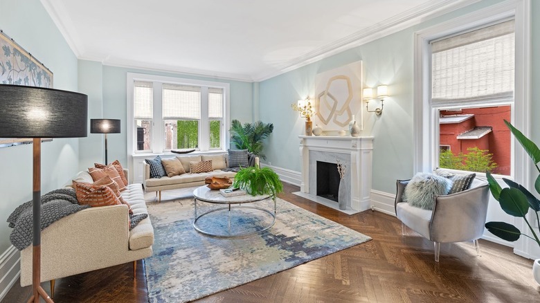
[[[136,149],[136,131],[134,128],[134,82],[145,81],[153,82],[153,104],[154,115],[152,118],[152,134],[150,136],[150,150],[138,151]],[[163,119],[162,95],[163,83],[201,86],[201,119],[199,120],[199,150],[198,152],[216,152],[225,151],[229,144],[229,138],[226,136],[225,128],[230,123],[230,102],[229,89],[230,84],[225,82],[211,82],[204,80],[184,79],[179,77],[167,77],[159,75],[147,75],[141,73],[127,73],[127,154],[129,156],[165,154],[170,152],[165,147],[165,123]],[[220,145],[219,149],[210,149],[210,136],[201,136],[210,131],[210,118],[208,118],[208,87],[223,89],[223,118],[221,119]],[[217,120],[212,118],[211,120]]]

